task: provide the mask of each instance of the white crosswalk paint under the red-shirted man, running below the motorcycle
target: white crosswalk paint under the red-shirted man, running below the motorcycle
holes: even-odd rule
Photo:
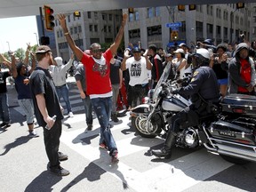
[[[122,120],[123,124],[116,124],[111,128],[111,132],[114,134],[115,139],[116,131],[128,127],[127,124],[129,123],[129,118],[126,117]],[[79,117],[77,116],[76,119],[75,117],[68,118],[67,121],[78,123]],[[145,153],[148,148],[162,143],[163,140],[157,138],[139,138],[139,141],[140,139],[143,140],[143,146],[136,144],[132,145],[132,140],[134,140],[136,136],[130,134],[122,140],[116,140],[116,146],[119,151],[118,155],[121,160],[115,167],[115,165],[112,166],[109,164],[110,157],[105,150],[99,149],[98,145],[97,147],[93,147],[93,145],[88,145],[82,142],[82,139],[86,137],[100,134],[100,125],[98,122],[95,122],[95,124],[93,123],[93,126],[99,129],[84,134],[81,134],[81,132],[84,132],[84,130],[81,129],[63,132],[61,141],[81,156],[84,156],[84,158],[97,164],[106,172],[113,174],[119,180],[122,180],[129,186],[129,188],[132,188],[135,191],[167,192],[171,191],[171,188],[172,191],[175,192],[182,191],[233,165],[222,160],[220,156],[212,155],[205,149],[200,149],[187,156],[181,156],[180,158],[174,159],[169,163],[152,163],[150,162],[150,157],[148,157],[148,162],[145,162],[145,164],[154,164],[156,167],[151,168],[146,172],[140,172],[129,166],[129,164],[124,164],[122,158],[138,152]],[[77,135],[79,135],[78,138]],[[76,138],[76,140],[74,140],[74,138]],[[99,137],[92,140],[99,140]]]

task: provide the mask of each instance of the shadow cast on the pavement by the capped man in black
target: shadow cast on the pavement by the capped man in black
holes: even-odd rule
[[[61,179],[61,177],[57,177],[49,171],[44,171],[31,181],[25,189],[25,192],[52,191],[52,186],[58,183]]]

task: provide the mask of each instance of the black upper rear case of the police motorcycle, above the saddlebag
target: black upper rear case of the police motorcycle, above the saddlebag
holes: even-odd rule
[[[224,112],[256,117],[256,96],[229,94],[221,100],[220,105]]]

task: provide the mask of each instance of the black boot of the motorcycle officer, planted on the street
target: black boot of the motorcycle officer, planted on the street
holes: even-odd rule
[[[164,148],[152,150],[152,154],[154,156],[164,157],[165,159],[171,158],[172,147],[174,146],[175,141],[176,141],[176,133],[169,132],[164,142]]]

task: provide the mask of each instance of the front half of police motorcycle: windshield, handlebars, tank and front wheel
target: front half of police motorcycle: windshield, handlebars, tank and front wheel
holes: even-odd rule
[[[171,81],[168,80],[170,71],[171,65],[167,65],[155,89],[149,90],[148,97],[142,100],[143,104],[132,108],[130,112],[132,127],[141,137],[164,137],[168,131],[168,119],[190,105],[190,101],[181,95],[170,94],[171,88],[177,88],[180,83],[188,81],[188,77],[182,82]]]

